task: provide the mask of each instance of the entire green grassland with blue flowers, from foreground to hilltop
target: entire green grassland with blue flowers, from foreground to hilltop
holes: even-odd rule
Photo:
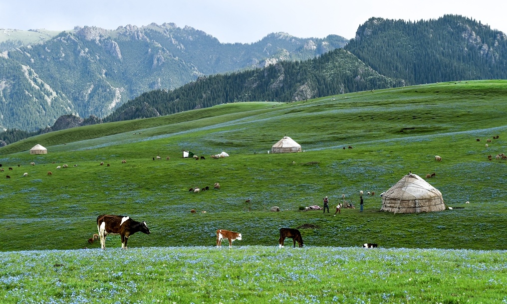
[[[0,270],[0,299],[505,301],[498,288],[505,282],[507,162],[494,158],[507,153],[505,96],[507,81],[495,80],[223,104],[2,147],[0,260],[8,266]],[[285,135],[304,152],[268,154]],[[48,154],[30,155],[37,143]],[[206,159],[183,159],[182,149]],[[210,159],[221,151],[230,157]],[[453,210],[380,212],[378,195],[409,171],[423,178],[435,172],[427,181]],[[220,189],[188,191],[215,182]],[[334,216],[342,194],[358,205],[359,191],[365,211]],[[300,211],[324,196],[331,213]],[[127,251],[117,236],[95,250],[100,243],[87,240],[103,213],[144,220],[152,234],[133,235]],[[301,227],[305,247],[278,249],[283,226]],[[217,229],[243,240],[215,249]],[[367,242],[380,250],[359,248]]]

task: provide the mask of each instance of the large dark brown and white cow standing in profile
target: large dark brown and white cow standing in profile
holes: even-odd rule
[[[134,233],[140,231],[144,234],[150,234],[150,229],[146,225],[146,222],[138,222],[123,215],[99,215],[97,217],[97,229],[102,249],[105,249],[105,238],[108,234],[120,235],[122,249],[127,249],[128,238]]]

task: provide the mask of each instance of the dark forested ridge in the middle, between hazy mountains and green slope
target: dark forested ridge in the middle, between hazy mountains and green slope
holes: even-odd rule
[[[156,117],[230,102],[300,101],[400,85],[401,81],[384,77],[349,52],[337,49],[307,61],[283,61],[264,69],[201,77],[173,91],[147,92],[104,121]]]

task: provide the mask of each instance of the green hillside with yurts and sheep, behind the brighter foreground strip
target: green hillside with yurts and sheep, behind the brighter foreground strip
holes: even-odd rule
[[[243,233],[241,245],[274,246],[280,226],[307,224],[307,246],[506,249],[506,163],[494,158],[507,151],[506,94],[507,81],[440,83],[229,103],[30,137],[0,148],[0,228],[16,236],[0,239],[0,250],[97,248],[87,240],[103,213],[147,221],[152,234],[132,236],[129,247],[213,246],[216,229]],[[304,152],[268,154],[284,135]],[[30,155],[37,143],[49,153]],[[182,149],[206,159],[182,159]],[[209,158],[221,151],[230,157]],[[435,172],[428,182],[454,209],[379,212],[378,194],[409,171]],[[220,189],[188,191],[215,182]],[[361,190],[376,192],[363,213],[299,210],[324,196],[336,206],[342,194],[358,204]],[[119,238],[107,247],[120,247]]]

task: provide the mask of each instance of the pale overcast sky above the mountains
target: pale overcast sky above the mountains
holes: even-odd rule
[[[67,30],[173,22],[223,43],[252,43],[272,32],[347,39],[371,17],[403,20],[462,15],[507,32],[507,1],[445,0],[0,0],[0,28]]]

